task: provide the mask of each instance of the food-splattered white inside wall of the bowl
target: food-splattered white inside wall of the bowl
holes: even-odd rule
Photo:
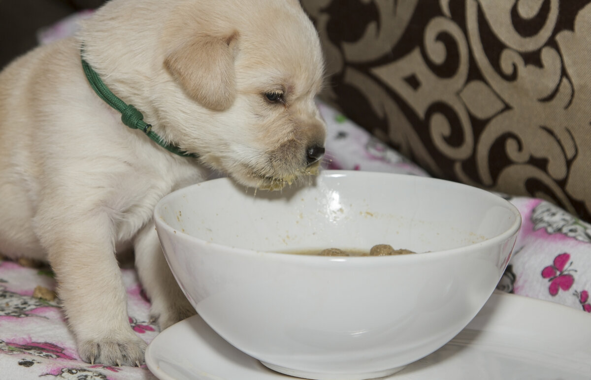
[[[431,252],[483,242],[515,225],[512,206],[447,181],[380,173],[324,173],[311,186],[255,191],[230,180],[167,197],[160,217],[204,241],[290,252],[375,244]]]

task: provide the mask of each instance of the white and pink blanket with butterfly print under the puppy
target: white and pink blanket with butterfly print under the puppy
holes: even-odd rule
[[[53,33],[44,31],[41,41],[70,33],[69,25],[57,25]],[[319,107],[328,127],[326,168],[427,176],[339,112],[324,103]],[[591,313],[591,225],[540,199],[505,197],[521,212],[522,227],[498,288]],[[149,321],[150,303],[134,269],[121,271],[129,323],[149,343],[158,333]],[[111,367],[82,362],[59,299],[53,298],[55,285],[48,268],[0,260],[0,380],[155,379],[145,365]]]

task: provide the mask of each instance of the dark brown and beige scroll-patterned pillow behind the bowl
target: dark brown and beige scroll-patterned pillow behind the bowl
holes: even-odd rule
[[[301,0],[324,100],[433,176],[591,220],[591,2]]]

